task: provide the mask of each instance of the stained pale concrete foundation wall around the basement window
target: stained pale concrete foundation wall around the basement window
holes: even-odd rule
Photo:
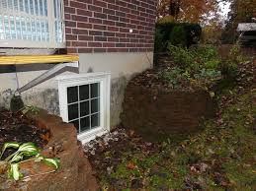
[[[120,122],[128,80],[136,73],[152,67],[153,53],[89,53],[79,54],[79,57],[79,71],[66,68],[65,71],[61,71],[63,72],[61,75],[110,71],[112,73],[111,126],[117,125]],[[52,65],[48,64],[35,64],[0,68],[0,106],[9,107],[10,98],[17,87],[24,86],[51,67]],[[17,71],[17,78],[14,71]],[[41,85],[26,91],[22,96],[26,104],[37,105],[50,113],[59,114],[57,82],[53,76]]]

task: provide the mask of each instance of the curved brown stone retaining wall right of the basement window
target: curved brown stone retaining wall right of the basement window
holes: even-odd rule
[[[202,117],[214,115],[208,92],[150,90],[128,85],[122,122],[149,141],[184,137],[199,130]]]

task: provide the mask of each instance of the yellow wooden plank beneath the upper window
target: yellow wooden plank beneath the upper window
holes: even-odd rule
[[[79,61],[78,55],[0,56],[0,65],[50,64]]]

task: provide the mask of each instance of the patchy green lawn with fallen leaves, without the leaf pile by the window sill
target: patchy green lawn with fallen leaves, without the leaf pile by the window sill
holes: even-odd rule
[[[227,98],[218,100],[218,117],[205,120],[202,132],[178,146],[162,143],[153,154],[122,153],[110,175],[100,176],[102,186],[107,190],[256,190],[256,91],[234,89],[221,97]]]

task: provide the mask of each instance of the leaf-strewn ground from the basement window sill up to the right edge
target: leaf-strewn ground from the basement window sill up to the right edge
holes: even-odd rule
[[[152,144],[121,128],[90,142],[103,190],[256,190],[256,62],[236,80],[216,97],[216,118],[182,142]]]

